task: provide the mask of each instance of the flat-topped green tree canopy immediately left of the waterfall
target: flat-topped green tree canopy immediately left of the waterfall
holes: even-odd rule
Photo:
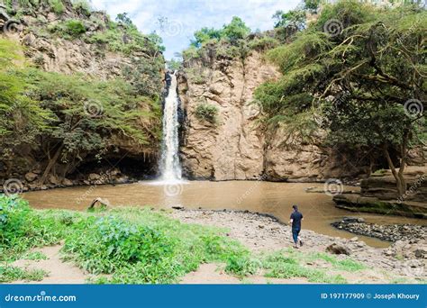
[[[159,120],[158,103],[138,95],[122,79],[93,81],[36,69],[23,76],[32,85],[29,95],[55,114],[45,138],[62,145],[62,161],[78,159],[84,151],[100,151],[115,135],[141,145],[158,137],[151,131],[149,137],[139,124]]]

